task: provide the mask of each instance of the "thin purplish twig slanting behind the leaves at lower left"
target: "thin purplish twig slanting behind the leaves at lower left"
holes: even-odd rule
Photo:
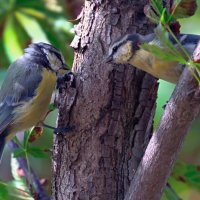
[[[13,140],[11,140],[8,143],[8,145],[12,150],[19,148],[19,146]],[[16,159],[19,163],[20,168],[24,171],[25,176],[31,177],[33,186],[34,186],[35,191],[36,191],[37,199],[38,200],[50,200],[50,197],[47,195],[45,189],[43,188],[43,186],[40,183],[39,178],[37,177],[37,175],[35,174],[35,172],[32,168],[30,169],[30,174],[29,174],[26,159],[24,159],[22,157],[17,157]]]

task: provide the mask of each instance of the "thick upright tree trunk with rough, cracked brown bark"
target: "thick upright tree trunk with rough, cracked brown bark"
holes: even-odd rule
[[[103,62],[127,32],[146,34],[148,1],[85,1],[72,43],[75,85],[60,94],[53,199],[123,199],[152,133],[157,82],[132,66]],[[75,86],[75,87],[74,87]]]

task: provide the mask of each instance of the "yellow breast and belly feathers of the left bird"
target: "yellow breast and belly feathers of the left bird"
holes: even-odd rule
[[[33,99],[29,102],[25,102],[15,110],[17,119],[15,123],[11,125],[11,133],[25,130],[44,120],[55,85],[56,74],[44,68],[42,80],[39,83]]]

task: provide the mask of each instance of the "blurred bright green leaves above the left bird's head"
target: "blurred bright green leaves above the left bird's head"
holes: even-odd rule
[[[60,49],[67,64],[72,51],[72,24],[62,11],[47,8],[43,0],[0,0],[0,67],[6,67],[23,53],[30,42],[48,42]]]

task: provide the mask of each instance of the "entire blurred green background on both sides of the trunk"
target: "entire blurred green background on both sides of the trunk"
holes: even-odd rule
[[[0,83],[4,79],[9,64],[19,57],[23,53],[23,49],[31,42],[51,43],[62,51],[67,64],[72,65],[73,50],[69,44],[73,38],[73,24],[76,23],[74,19],[80,13],[82,4],[83,0],[0,0]],[[181,31],[200,35],[199,20],[200,9],[197,10],[195,16],[180,21]],[[173,89],[173,84],[160,81],[155,127],[162,115],[162,107],[166,104]],[[46,123],[55,125],[56,116],[57,113],[54,111],[48,116]],[[185,140],[179,156],[180,161],[169,179],[170,185],[184,200],[200,199],[199,130],[200,120],[196,120]],[[45,129],[43,136],[33,145],[51,148],[52,141],[52,131]],[[31,165],[39,176],[47,179],[47,189],[50,191],[50,156],[44,159],[30,159]],[[184,181],[183,176],[185,176]],[[0,165],[0,179],[4,181],[12,179],[8,149],[5,150]],[[163,199],[174,198],[173,195],[169,196],[169,193],[165,193]]]

